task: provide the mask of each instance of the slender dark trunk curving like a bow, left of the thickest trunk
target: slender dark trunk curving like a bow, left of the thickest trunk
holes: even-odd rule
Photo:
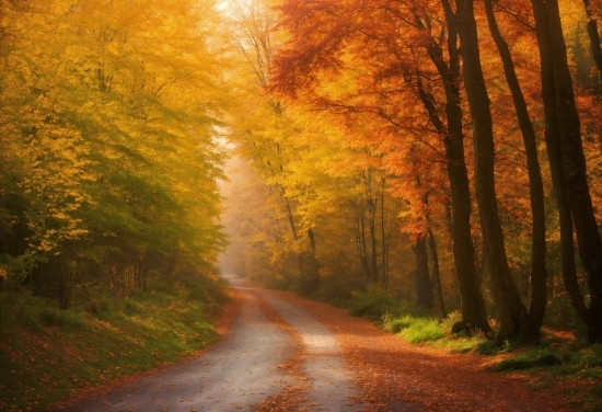
[[[531,215],[533,217],[533,236],[531,243],[531,307],[529,310],[529,337],[537,341],[540,329],[544,319],[547,304],[547,268],[546,268],[546,241],[545,241],[545,208],[544,186],[540,161],[537,159],[537,142],[535,130],[529,116],[526,102],[514,71],[514,64],[508,44],[501,36],[494,13],[491,0],[485,0],[485,11],[489,31],[498,48],[506,81],[512,94],[514,110],[522,133],[524,149],[526,153],[526,165],[529,170],[529,194],[531,199]]]

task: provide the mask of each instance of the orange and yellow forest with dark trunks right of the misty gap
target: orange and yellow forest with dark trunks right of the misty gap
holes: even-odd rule
[[[600,342],[598,5],[235,9],[256,85],[230,126],[254,173],[227,201],[235,271],[331,300],[380,287],[500,341],[537,341],[560,299]]]

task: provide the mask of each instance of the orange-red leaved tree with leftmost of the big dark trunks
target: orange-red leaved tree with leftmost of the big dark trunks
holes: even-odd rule
[[[384,121],[389,125],[391,136],[397,139],[404,135],[419,136],[420,141],[426,141],[428,127],[417,121],[415,112],[403,111],[416,107],[418,100],[424,107],[422,115],[436,128],[439,141],[433,139],[437,141],[433,146],[444,142],[462,316],[468,329],[488,332],[471,238],[472,203],[464,160],[453,12],[448,7],[442,18],[445,23],[438,26],[441,10],[430,5],[425,3],[424,9],[413,9],[401,2],[285,2],[282,25],[291,33],[291,39],[277,56],[274,88],[335,113],[366,113],[370,118],[375,115],[381,124]],[[437,41],[439,36],[431,34],[437,30],[449,33],[443,41],[449,62]],[[439,81],[431,80],[436,79],[433,71]],[[348,72],[357,75],[349,79]],[[327,84],[333,77],[352,87],[347,87],[346,94],[328,95]],[[444,96],[447,124],[429,88],[436,88],[437,93]],[[391,140],[385,142],[387,148]]]

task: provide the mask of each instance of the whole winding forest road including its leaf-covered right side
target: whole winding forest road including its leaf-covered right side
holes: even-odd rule
[[[571,411],[491,357],[412,345],[347,311],[229,278],[239,313],[202,355],[56,411]]]

